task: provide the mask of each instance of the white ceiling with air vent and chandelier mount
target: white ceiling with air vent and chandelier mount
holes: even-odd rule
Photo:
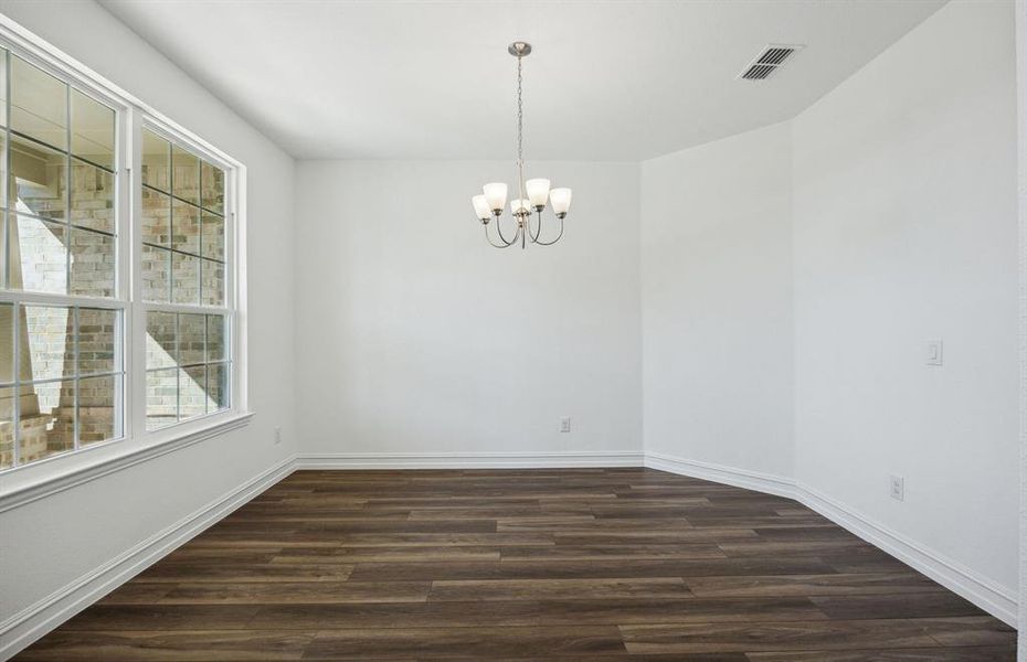
[[[793,117],[942,0],[100,0],[304,159],[638,160]],[[737,79],[767,43],[806,49]]]

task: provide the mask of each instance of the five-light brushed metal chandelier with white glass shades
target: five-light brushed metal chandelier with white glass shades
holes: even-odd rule
[[[525,181],[525,104],[521,95],[522,63],[525,57],[531,53],[531,44],[527,42],[514,42],[507,49],[510,55],[517,57],[517,194],[510,201],[510,213],[517,225],[514,236],[507,239],[500,226],[502,210],[507,203],[507,185],[501,182],[485,184],[481,195],[475,195],[470,199],[474,204],[475,214],[481,221],[485,227],[485,238],[496,248],[509,248],[515,244],[520,244],[526,248],[528,242],[541,246],[552,246],[563,236],[563,220],[567,217],[568,210],[571,209],[571,190],[570,189],[550,189],[548,179],[530,179]],[[560,232],[555,238],[546,241],[542,238],[542,212],[547,203],[552,206],[553,214],[560,221]],[[532,212],[537,221],[532,223]],[[489,221],[496,218],[496,234],[498,242],[493,241],[488,232]]]

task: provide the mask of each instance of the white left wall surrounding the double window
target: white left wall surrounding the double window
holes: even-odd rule
[[[93,2],[0,12],[248,168],[250,405],[241,430],[0,513],[0,622],[295,452],[293,160]],[[273,445],[274,426],[285,441]],[[10,633],[2,641],[10,641]]]

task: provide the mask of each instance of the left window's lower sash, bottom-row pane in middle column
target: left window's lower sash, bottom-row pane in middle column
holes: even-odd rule
[[[20,402],[20,463],[42,460],[75,447],[74,380],[22,386]]]

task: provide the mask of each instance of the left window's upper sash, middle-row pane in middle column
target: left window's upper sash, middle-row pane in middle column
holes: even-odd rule
[[[64,220],[67,156],[20,136],[11,137],[11,204],[18,212]]]

